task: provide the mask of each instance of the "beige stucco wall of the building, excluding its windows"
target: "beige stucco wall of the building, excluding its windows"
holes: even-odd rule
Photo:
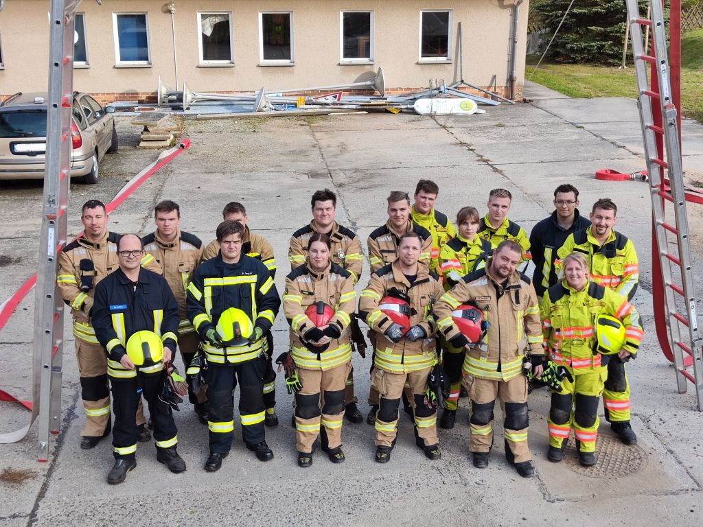
[[[463,77],[498,91],[508,86],[510,37],[514,4],[503,0],[174,0],[176,60],[172,16],[166,0],[83,0],[89,67],[76,68],[75,89],[107,98],[143,98],[154,93],[157,78],[181,90],[183,81],[195,91],[288,89],[354,82],[373,77],[382,67],[388,88],[420,89],[430,82],[460,79],[458,22],[463,31]],[[372,64],[340,64],[340,11],[373,11]],[[451,60],[418,63],[420,11],[451,9]],[[4,70],[0,96],[16,91],[46,90],[49,62],[49,0],[6,0],[0,12]],[[233,67],[199,65],[198,11],[231,11]],[[292,11],[295,65],[259,65],[259,11]],[[517,46],[517,95],[522,93],[528,2],[520,8]],[[116,67],[112,13],[148,13],[151,65]],[[178,86],[176,86],[176,67]],[[503,91],[505,93],[505,91]]]

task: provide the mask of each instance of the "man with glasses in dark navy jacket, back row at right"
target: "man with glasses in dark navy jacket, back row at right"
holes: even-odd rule
[[[554,261],[559,248],[569,234],[591,225],[591,221],[579,213],[579,190],[573,185],[567,183],[554,190],[554,207],[554,212],[537,223],[529,235],[534,263],[532,283],[540,299],[549,287],[557,283]]]

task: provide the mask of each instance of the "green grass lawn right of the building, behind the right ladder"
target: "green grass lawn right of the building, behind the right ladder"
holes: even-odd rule
[[[525,80],[547,86],[570,97],[637,96],[632,64],[626,70],[589,64],[546,64],[534,71],[539,57],[528,56]],[[533,74],[534,72],[534,74]],[[703,30],[681,37],[681,107],[683,115],[703,122]]]

